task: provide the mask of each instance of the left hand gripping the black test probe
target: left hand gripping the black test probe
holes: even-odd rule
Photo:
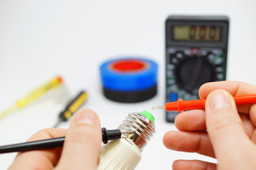
[[[89,109],[75,113],[68,130],[45,129],[28,141],[65,136],[63,148],[20,152],[9,170],[16,169],[96,169],[101,146],[99,118]]]

